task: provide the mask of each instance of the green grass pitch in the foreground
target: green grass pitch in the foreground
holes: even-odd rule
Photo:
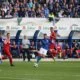
[[[8,62],[0,64],[0,80],[80,80],[80,62]]]

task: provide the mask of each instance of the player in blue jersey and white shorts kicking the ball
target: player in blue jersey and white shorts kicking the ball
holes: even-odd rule
[[[43,39],[41,40],[41,48],[37,52],[38,56],[36,57],[36,63],[34,64],[35,67],[38,67],[38,64],[41,60],[41,58],[44,58],[47,55],[47,51],[49,50],[50,40],[47,37],[47,34],[43,34]]]

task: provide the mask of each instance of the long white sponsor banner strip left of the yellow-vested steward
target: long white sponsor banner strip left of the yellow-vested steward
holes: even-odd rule
[[[43,30],[49,30],[53,23],[45,18],[22,18],[18,24],[18,19],[0,19],[0,29],[4,30],[37,30],[39,27]],[[2,28],[3,27],[3,28]]]

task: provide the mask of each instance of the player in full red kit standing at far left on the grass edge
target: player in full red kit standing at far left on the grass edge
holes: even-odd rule
[[[9,58],[10,66],[14,66],[12,61],[12,55],[10,52],[10,33],[7,33],[6,35],[6,39],[4,40],[3,50],[6,56]]]

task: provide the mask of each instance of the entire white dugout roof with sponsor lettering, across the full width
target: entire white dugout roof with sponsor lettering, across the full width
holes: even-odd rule
[[[53,22],[49,22],[46,18],[0,19],[0,30],[10,32],[22,30],[22,35],[28,36],[33,36],[37,29],[49,35],[50,27],[57,29],[61,36],[68,36],[71,30],[80,31],[80,18],[61,18],[54,26]]]

